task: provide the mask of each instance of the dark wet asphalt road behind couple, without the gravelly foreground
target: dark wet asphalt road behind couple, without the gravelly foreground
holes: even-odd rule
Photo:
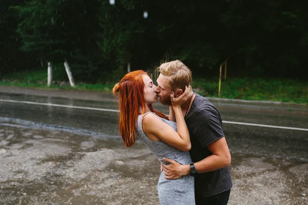
[[[0,93],[0,99],[117,109],[114,98],[109,94],[105,94],[104,101],[7,93]],[[213,104],[220,111],[224,121],[308,129],[308,109],[305,106],[235,104],[217,101],[213,101]],[[25,120],[24,123],[32,121],[49,126],[74,128],[71,131],[76,133],[91,132],[98,137],[120,139],[117,112],[6,102],[0,102],[0,106],[2,121],[13,122],[22,119]],[[168,112],[168,108],[159,103],[154,107],[164,113]],[[308,131],[228,123],[224,123],[223,128],[232,153],[308,161]]]

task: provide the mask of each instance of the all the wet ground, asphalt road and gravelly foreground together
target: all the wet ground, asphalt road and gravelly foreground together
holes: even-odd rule
[[[0,99],[117,109],[109,94],[56,93],[0,92]],[[225,121],[308,129],[306,106],[210,101]],[[142,144],[127,152],[117,122],[117,112],[0,101],[0,202],[157,204],[158,161]],[[308,131],[223,127],[233,158],[229,204],[307,204]]]

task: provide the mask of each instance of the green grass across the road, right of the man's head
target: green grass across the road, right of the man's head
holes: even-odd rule
[[[220,96],[218,96],[218,79],[194,80],[192,87],[201,89],[200,94],[208,97],[308,103],[308,83],[305,81],[274,78],[231,78],[222,80]]]

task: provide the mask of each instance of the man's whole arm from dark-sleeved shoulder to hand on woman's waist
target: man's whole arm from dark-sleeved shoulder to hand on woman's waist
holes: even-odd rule
[[[221,122],[220,113],[210,105],[206,109],[200,110],[194,121],[190,122],[195,127],[191,130],[195,140],[201,147],[206,147],[211,152],[210,156],[194,163],[198,173],[211,172],[230,165],[230,152]],[[168,159],[165,161],[171,163],[167,166],[164,165],[165,175],[167,175],[165,178],[167,179],[180,178],[190,172],[189,165],[182,166],[180,163],[173,160],[168,161]]]

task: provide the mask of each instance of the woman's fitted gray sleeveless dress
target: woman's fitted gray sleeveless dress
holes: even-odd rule
[[[181,150],[178,150],[177,148],[166,144],[162,140],[152,141],[145,135],[142,129],[142,119],[144,115],[138,116],[138,139],[140,139],[162,163],[167,164],[167,162],[163,160],[163,157],[176,160],[182,165],[187,165],[191,163],[192,161],[189,152],[183,152]],[[164,118],[161,119],[177,131],[176,122],[169,121]],[[157,188],[160,203],[163,205],[195,204],[194,183],[195,179],[190,175],[182,176],[181,178],[176,180],[170,180],[165,179],[164,172],[162,172],[158,180]]]

